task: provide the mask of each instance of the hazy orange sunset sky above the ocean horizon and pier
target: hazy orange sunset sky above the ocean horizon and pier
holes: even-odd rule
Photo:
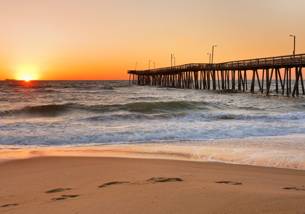
[[[129,79],[127,70],[305,53],[305,1],[10,0],[0,79]],[[151,64],[151,66],[153,66]],[[293,78],[292,72],[292,78]],[[249,78],[249,77],[248,77]]]

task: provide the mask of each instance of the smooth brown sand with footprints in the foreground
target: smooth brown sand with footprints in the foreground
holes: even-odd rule
[[[0,169],[0,213],[305,213],[303,170],[117,157]]]

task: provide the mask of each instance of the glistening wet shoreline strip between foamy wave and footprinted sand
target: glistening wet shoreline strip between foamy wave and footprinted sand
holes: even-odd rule
[[[98,146],[6,146],[0,163],[13,159],[44,156],[127,157],[193,160],[305,170],[304,135],[122,143]],[[281,143],[280,143],[281,142]],[[294,144],[298,142],[298,144]],[[289,147],[286,145],[289,144]],[[245,147],[247,145],[247,147]],[[277,145],[275,148],[274,145]]]

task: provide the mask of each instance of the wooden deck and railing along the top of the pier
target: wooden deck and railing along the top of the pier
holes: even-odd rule
[[[217,64],[209,63],[192,63],[185,65],[177,65],[173,67],[166,68],[156,68],[143,71],[129,70],[127,73],[130,74],[153,74],[161,72],[177,72],[183,70],[243,70],[251,68],[264,68],[264,67],[273,67],[273,66],[285,66],[285,65],[300,65],[305,64],[305,53],[295,54],[295,55],[286,55],[278,57],[267,57],[267,58],[257,58],[257,59],[248,59],[248,60],[239,60],[239,61],[230,61]]]

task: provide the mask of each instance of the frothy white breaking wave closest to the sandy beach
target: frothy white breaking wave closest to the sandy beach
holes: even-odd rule
[[[146,125],[124,131],[101,131],[90,127],[86,131],[75,132],[71,128],[65,133],[54,130],[48,135],[14,135],[0,136],[2,145],[72,145],[72,144],[119,144],[136,142],[166,142],[166,141],[199,141],[214,139],[249,138],[258,136],[279,136],[289,134],[305,134],[303,123],[235,123],[191,126],[190,124],[172,125],[168,127],[152,127]]]

